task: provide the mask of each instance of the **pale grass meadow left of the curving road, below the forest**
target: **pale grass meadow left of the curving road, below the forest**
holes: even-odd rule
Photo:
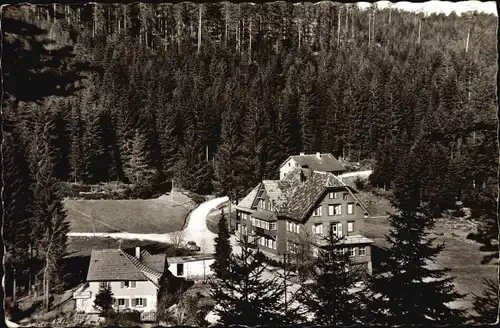
[[[181,230],[195,203],[182,193],[157,199],[64,201],[70,232],[162,234]]]

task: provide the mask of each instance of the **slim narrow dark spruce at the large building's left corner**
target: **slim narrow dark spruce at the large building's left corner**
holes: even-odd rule
[[[217,225],[218,232],[215,237],[215,260],[210,265],[210,268],[215,273],[218,279],[226,279],[229,275],[230,257],[233,251],[231,242],[229,240],[230,234],[227,225],[224,209],[222,209],[219,223]]]

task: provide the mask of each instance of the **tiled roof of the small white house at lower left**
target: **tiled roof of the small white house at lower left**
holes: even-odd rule
[[[163,268],[160,269],[162,260]],[[144,262],[153,264],[155,268],[151,268]],[[164,266],[165,256],[162,255],[147,253],[139,260],[121,249],[92,250],[87,281],[145,281],[149,280],[147,274],[161,277]]]

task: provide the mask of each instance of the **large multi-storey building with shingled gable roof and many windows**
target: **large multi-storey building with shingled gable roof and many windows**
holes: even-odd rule
[[[317,256],[330,230],[342,238],[339,250],[371,273],[371,243],[364,237],[368,210],[331,172],[296,168],[281,180],[264,180],[237,206],[237,235],[272,255],[306,250]]]

